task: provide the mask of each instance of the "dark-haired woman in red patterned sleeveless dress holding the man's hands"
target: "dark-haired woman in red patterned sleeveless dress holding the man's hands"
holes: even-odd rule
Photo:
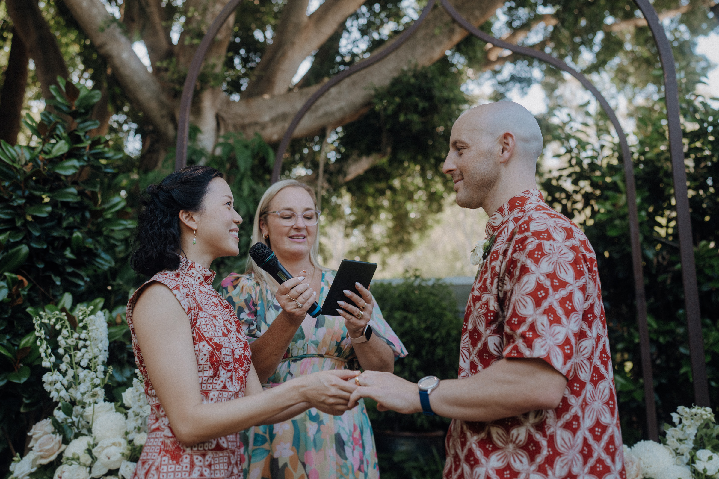
[[[322,371],[262,391],[237,315],[209,269],[237,256],[232,191],[214,168],[185,167],[150,185],[132,267],[151,276],[127,303],[132,349],[150,403],[136,478],[242,478],[239,431],[309,408],[347,410],[359,371]]]

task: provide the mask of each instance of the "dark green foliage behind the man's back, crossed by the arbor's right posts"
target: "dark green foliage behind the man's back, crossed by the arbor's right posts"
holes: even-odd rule
[[[659,108],[640,108],[638,144],[633,147],[642,260],[651,341],[654,391],[659,422],[667,422],[677,406],[694,401],[687,338],[681,264],[672,196],[672,164],[667,127]],[[719,399],[719,215],[713,178],[719,177],[719,141],[713,124],[719,111],[697,98],[682,106],[687,180],[692,211],[697,281],[712,404]],[[587,233],[597,258],[614,355],[624,439],[641,439],[644,383],[641,378],[631,246],[623,167],[608,122],[597,118],[600,144],[587,135],[588,125],[544,123],[547,140],[558,141],[562,167],[544,169],[541,187],[546,201],[574,218]]]

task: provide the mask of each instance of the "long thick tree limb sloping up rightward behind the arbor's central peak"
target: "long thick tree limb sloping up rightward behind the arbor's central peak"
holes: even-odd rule
[[[479,25],[502,4],[502,0],[457,0],[454,6],[472,24]],[[373,88],[388,85],[403,69],[413,65],[431,65],[466,36],[467,32],[452,22],[444,10],[434,9],[413,37],[398,50],[325,93],[308,111],[293,137],[307,136],[321,131],[324,126],[339,126],[357,118],[357,113],[372,100]],[[319,86],[303,88],[297,93],[290,91],[270,98],[254,97],[239,102],[224,98],[218,113],[221,130],[244,131],[246,134],[257,131],[265,141],[279,141],[295,113]]]

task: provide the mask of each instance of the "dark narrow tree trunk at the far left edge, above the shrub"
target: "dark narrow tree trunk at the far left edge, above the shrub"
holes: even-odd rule
[[[25,43],[12,29],[10,57],[5,69],[5,80],[0,93],[0,139],[14,145],[20,132],[20,115],[27,86],[27,62],[29,52]]]

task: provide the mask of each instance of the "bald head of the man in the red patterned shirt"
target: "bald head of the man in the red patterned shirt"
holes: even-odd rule
[[[466,111],[452,126],[449,141],[443,171],[452,175],[457,204],[465,208],[480,208],[487,195],[496,194],[500,180],[508,187],[533,183],[543,144],[536,119],[510,101]]]

